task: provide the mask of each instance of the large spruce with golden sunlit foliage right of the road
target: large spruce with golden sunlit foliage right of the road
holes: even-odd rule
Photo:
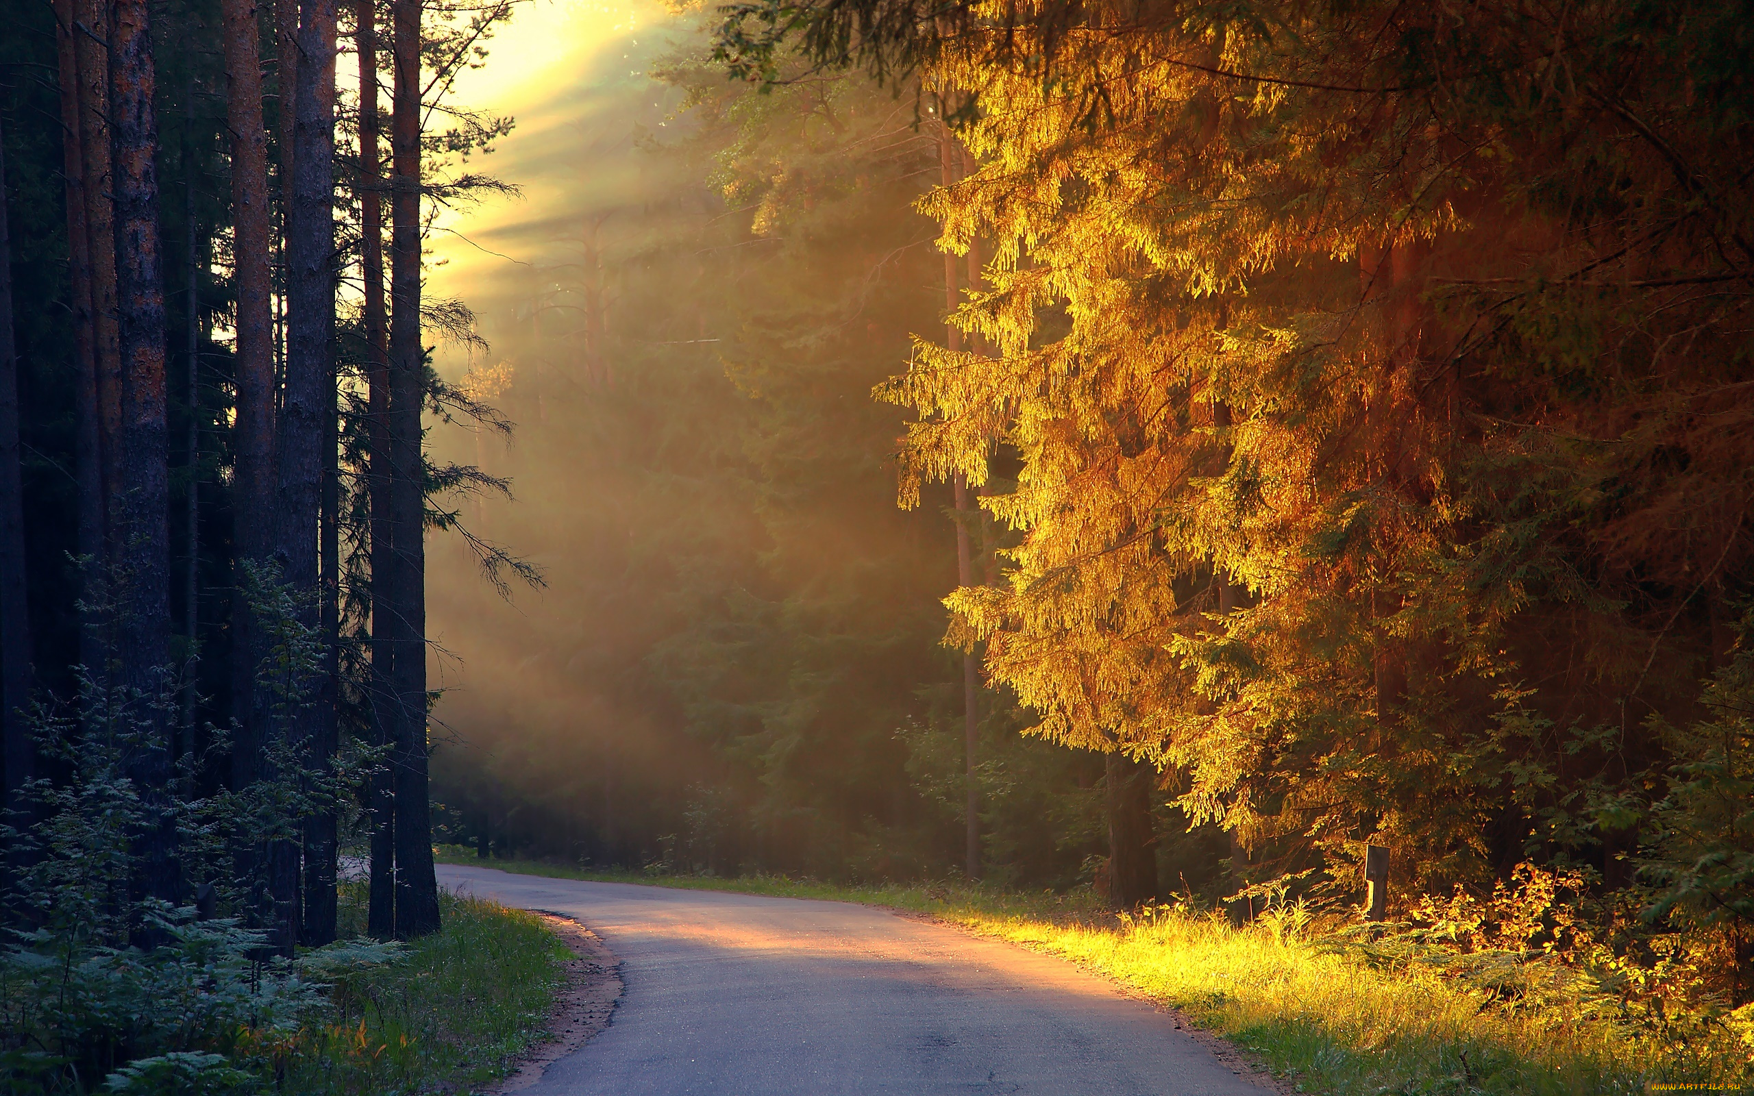
[[[1617,859],[1749,559],[1749,133],[1705,5],[973,7],[882,398],[1019,530],[959,642],[1286,868]]]

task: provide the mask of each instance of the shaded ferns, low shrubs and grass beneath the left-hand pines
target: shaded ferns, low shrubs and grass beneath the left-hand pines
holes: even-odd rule
[[[200,921],[181,926],[177,945],[146,954],[86,949],[70,956],[67,979],[37,977],[26,959],[40,949],[12,952],[0,963],[0,1087],[21,1096],[479,1091],[545,1038],[567,952],[533,914],[451,893],[440,907],[442,931],[372,943],[361,936],[365,882],[344,882],[342,940],[291,964],[253,959],[260,949],[235,924]],[[196,993],[167,993],[174,986]],[[147,1001],[144,1012],[126,1008]]]

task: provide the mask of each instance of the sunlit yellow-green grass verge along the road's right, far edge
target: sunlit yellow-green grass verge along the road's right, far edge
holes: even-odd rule
[[[1598,1096],[1647,1082],[1754,1087],[1750,1050],[1710,1024],[1633,1024],[1565,993],[1507,996],[1431,956],[1386,959],[1286,910],[1247,928],[1159,908],[1135,922],[1091,896],[945,884],[840,886],[786,877],[582,872],[531,861],[446,863],[556,879],[859,901],[1061,956],[1184,1010],[1298,1091],[1335,1096]]]

